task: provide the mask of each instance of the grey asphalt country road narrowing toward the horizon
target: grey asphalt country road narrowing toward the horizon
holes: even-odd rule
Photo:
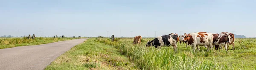
[[[0,49],[0,70],[44,70],[57,57],[84,40]]]

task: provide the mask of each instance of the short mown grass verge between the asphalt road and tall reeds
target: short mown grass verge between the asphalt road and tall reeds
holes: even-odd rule
[[[136,67],[114,46],[90,38],[62,54],[45,70],[136,70]]]

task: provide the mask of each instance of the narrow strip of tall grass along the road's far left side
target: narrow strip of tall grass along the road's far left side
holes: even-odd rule
[[[78,38],[35,38],[35,39],[27,39],[27,38],[0,38],[0,49],[3,48],[12,48],[17,46],[30,46],[30,45],[38,45],[45,43],[53,43],[63,40],[72,40]]]

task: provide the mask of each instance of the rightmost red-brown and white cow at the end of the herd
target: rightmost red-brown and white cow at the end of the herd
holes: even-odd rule
[[[218,50],[219,46],[225,46],[225,49],[227,51],[227,45],[228,45],[228,43],[231,43],[230,35],[225,35],[222,33],[221,34],[212,34],[212,35],[213,35],[213,45],[215,46],[215,49]],[[222,47],[220,47],[220,48],[222,48]]]

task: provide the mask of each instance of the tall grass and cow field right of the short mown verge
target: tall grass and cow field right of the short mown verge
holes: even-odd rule
[[[145,47],[147,41],[153,38],[143,38],[142,44],[133,45],[131,38],[118,38],[112,42],[108,38],[96,38],[96,41],[119,49],[119,52],[134,62],[141,70],[254,70],[256,69],[256,39],[237,38],[235,50],[229,46],[229,51],[207,51],[200,46],[201,51],[193,53],[192,48],[178,43],[177,53],[171,47],[157,49]]]

